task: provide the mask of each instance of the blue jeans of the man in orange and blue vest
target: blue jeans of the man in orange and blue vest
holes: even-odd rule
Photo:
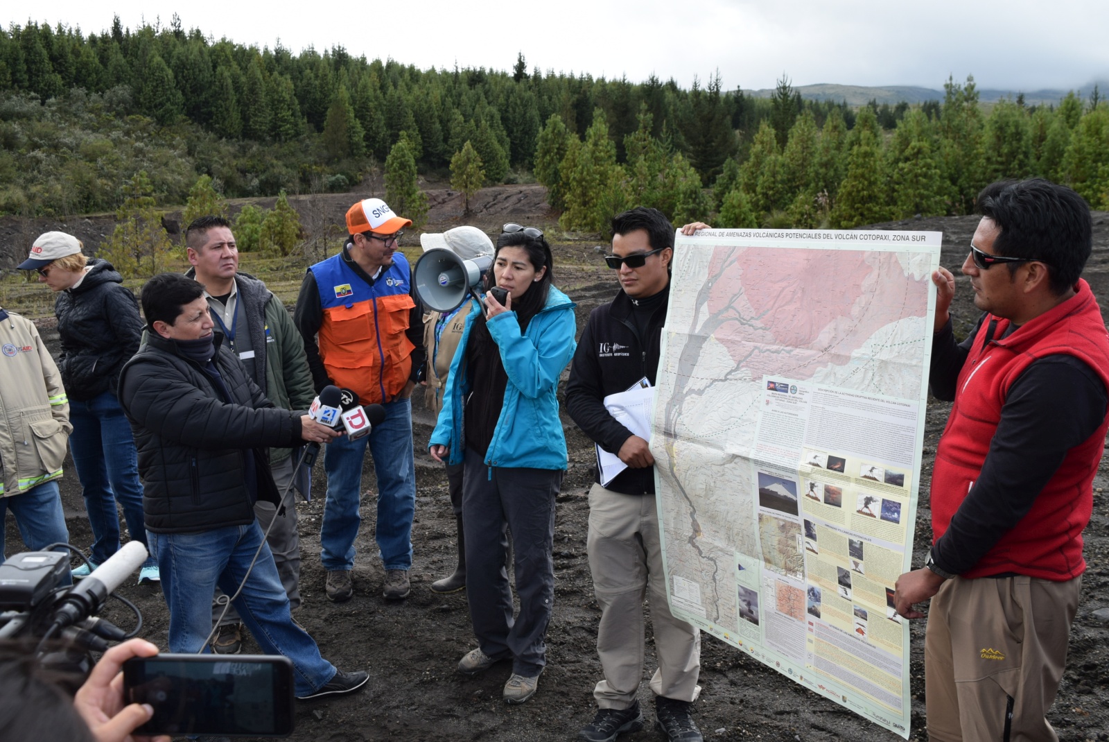
[[[324,568],[354,568],[354,539],[362,516],[362,467],[366,446],[374,456],[377,475],[377,547],[385,569],[409,569],[413,565],[413,516],[416,514],[416,460],[413,457],[413,406],[410,399],[390,402],[385,419],[358,440],[346,436],[327,444],[324,470],[327,499],[319,530]]]

